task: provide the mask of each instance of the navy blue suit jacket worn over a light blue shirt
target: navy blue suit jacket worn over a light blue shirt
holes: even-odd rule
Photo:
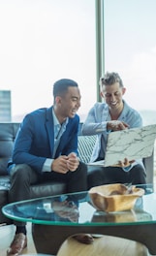
[[[56,150],[55,158],[59,155],[68,155],[71,152],[78,154],[78,123],[78,114],[74,118],[69,118],[66,131],[63,133]],[[53,148],[52,107],[27,114],[16,134],[13,163],[27,164],[41,172],[46,159],[52,158]]]

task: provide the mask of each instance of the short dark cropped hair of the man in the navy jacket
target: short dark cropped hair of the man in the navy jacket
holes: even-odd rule
[[[53,84],[53,97],[62,96],[68,91],[68,87],[78,87],[78,83],[75,80],[62,79],[57,80]]]

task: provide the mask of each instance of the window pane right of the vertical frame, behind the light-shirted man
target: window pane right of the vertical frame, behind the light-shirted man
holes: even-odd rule
[[[105,69],[118,72],[124,98],[156,123],[156,1],[105,1]]]

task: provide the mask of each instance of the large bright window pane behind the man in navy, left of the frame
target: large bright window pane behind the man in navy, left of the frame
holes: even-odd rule
[[[77,80],[81,121],[96,102],[95,0],[0,0],[0,90],[12,121],[52,105],[55,80]]]

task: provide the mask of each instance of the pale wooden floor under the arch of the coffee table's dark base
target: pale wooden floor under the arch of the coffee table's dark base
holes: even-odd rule
[[[95,239],[92,244],[80,243],[73,238],[65,240],[57,256],[149,256],[147,248],[134,240],[111,236]]]

